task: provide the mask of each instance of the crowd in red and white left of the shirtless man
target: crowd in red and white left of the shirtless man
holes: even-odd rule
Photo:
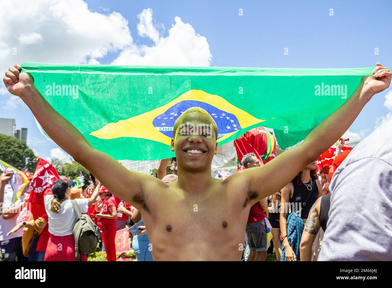
[[[173,174],[167,174],[166,167],[171,161]],[[45,213],[34,221],[31,219],[31,206],[28,205],[32,188],[27,185],[24,192],[13,203],[13,190],[9,181],[13,178],[13,171],[6,170],[0,176],[0,194],[2,209],[0,210],[0,243],[2,261],[75,261],[75,239],[73,228],[79,217],[74,210],[71,200],[76,201],[82,214],[87,214],[100,230],[99,249],[105,251],[107,261],[126,259],[125,252],[116,255],[116,232],[130,228],[134,223],[142,220],[138,209],[113,195],[92,174],[89,181],[83,181],[81,187],[67,178],[59,176],[51,185],[51,194],[44,196]],[[30,172],[24,171],[27,179],[32,180]],[[157,177],[165,183],[177,179],[176,159],[169,158],[160,161]],[[33,183],[31,183],[33,184]],[[37,249],[40,234],[47,224],[49,237],[42,244],[44,248]],[[34,231],[31,242],[26,239],[31,236],[29,230]],[[131,234],[131,247],[136,261],[152,261],[149,239],[145,226],[139,226],[140,233]],[[44,237],[42,237],[43,239]],[[59,250],[58,247],[62,248]],[[87,261],[88,254],[81,255],[81,261]]]

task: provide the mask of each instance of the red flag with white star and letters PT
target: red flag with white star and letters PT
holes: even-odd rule
[[[29,187],[29,203],[34,220],[45,214],[44,196],[52,194],[52,184],[57,179],[60,177],[52,163],[40,158]]]

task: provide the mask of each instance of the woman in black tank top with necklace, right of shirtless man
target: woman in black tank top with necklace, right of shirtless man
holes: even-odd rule
[[[318,197],[321,197],[322,195],[323,188],[318,180],[316,162],[303,168],[303,170],[282,189],[280,228],[283,245],[285,246],[286,259],[287,257],[294,259],[295,256],[287,237],[285,237],[285,235],[287,235],[287,216],[290,213],[301,209],[301,218],[305,225],[310,208],[312,208]],[[288,211],[286,211],[286,207],[288,208]]]

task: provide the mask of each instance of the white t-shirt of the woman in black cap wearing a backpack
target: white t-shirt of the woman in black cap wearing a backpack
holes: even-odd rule
[[[53,195],[45,195],[44,197],[45,210],[48,215],[49,233],[55,236],[71,235],[76,222],[79,220],[79,217],[72,206],[72,202],[69,199],[64,200],[60,205],[60,211],[56,213],[51,210],[53,198]],[[80,211],[82,211],[82,213],[87,213],[89,199],[75,200],[79,205]]]

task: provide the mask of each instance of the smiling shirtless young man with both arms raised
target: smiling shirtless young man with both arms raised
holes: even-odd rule
[[[263,167],[243,170],[224,181],[211,177],[211,161],[217,153],[216,130],[209,138],[181,135],[181,129],[176,129],[171,150],[177,158],[178,181],[166,184],[129,171],[91,147],[44,100],[34,87],[32,76],[19,74],[20,69],[20,65],[15,65],[5,72],[3,80],[8,91],[26,103],[50,138],[75,161],[91,171],[114,195],[142,212],[154,261],[239,261],[250,207],[283,188],[303,167],[331,147],[372,96],[387,89],[391,81],[391,72],[377,63],[373,71],[376,78],[363,77],[350,99],[320,123],[301,145]],[[207,112],[184,112],[177,121],[177,124],[188,121],[214,125]]]

